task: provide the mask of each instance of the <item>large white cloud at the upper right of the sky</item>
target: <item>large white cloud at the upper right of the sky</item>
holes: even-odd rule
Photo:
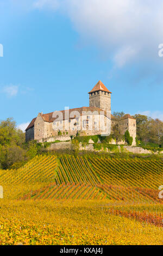
[[[98,45],[119,67],[130,60],[158,60],[163,41],[162,0],[37,0],[35,8],[50,7],[70,17],[87,43]]]

